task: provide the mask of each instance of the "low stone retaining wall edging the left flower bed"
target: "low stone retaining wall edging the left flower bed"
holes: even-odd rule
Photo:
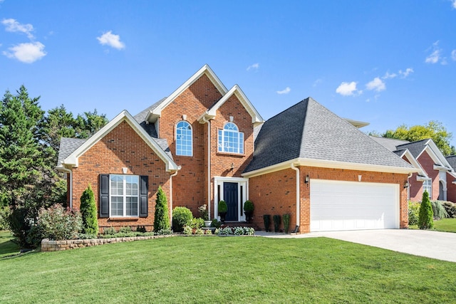
[[[73,248],[83,248],[90,246],[103,245],[105,243],[122,243],[130,241],[160,239],[168,236],[174,236],[173,234],[165,236],[132,236],[129,238],[113,238],[113,239],[88,239],[88,240],[66,240],[66,241],[49,241],[43,239],[41,241],[41,251],[62,251]]]

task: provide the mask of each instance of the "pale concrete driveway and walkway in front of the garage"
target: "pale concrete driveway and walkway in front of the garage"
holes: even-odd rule
[[[456,262],[456,234],[449,232],[408,230],[408,229],[382,229],[358,231],[328,231],[312,232],[310,234],[274,234],[264,231],[255,231],[259,236],[271,238],[309,238],[326,237],[361,243],[363,245],[389,249],[415,256],[437,258],[442,261]]]

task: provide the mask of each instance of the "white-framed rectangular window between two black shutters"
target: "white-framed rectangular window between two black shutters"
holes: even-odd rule
[[[139,207],[138,175],[110,174],[110,216],[135,217]]]

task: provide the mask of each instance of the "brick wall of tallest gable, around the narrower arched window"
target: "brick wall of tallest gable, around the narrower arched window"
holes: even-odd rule
[[[220,98],[222,94],[204,74],[167,105],[160,117],[159,137],[167,140],[176,164],[182,166],[172,178],[173,207],[186,206],[194,216],[198,216],[198,206],[207,204],[207,125],[197,118]],[[192,125],[192,157],[176,155],[175,130],[182,115]]]

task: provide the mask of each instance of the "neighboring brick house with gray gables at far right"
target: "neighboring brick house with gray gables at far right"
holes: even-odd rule
[[[430,199],[456,201],[456,173],[453,169],[453,159],[456,158],[445,158],[432,139],[407,142],[385,137],[372,138],[419,170],[408,179],[411,201],[421,201],[425,190]]]

